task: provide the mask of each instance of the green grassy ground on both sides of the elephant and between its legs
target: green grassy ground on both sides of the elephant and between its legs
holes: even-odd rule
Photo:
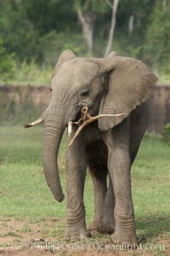
[[[42,127],[29,130],[20,126],[0,127],[0,247],[37,238],[64,241],[65,201],[54,201],[43,177],[42,133]],[[143,245],[165,243],[166,251],[156,251],[156,255],[168,253],[167,241],[170,241],[169,150],[161,137],[146,135],[132,170],[137,236],[143,238]],[[59,169],[65,191],[65,137],[59,152]],[[94,211],[89,177],[85,206],[89,224]],[[102,243],[109,241],[109,236],[94,232],[89,241]]]

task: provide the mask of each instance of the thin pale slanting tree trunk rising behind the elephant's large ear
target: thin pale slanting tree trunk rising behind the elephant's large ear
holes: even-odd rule
[[[105,57],[109,55],[111,52],[111,44],[113,42],[113,36],[115,32],[115,26],[116,26],[116,10],[118,6],[119,0],[113,0],[113,5],[112,5],[112,15],[111,15],[111,28],[110,28],[110,33],[109,33],[109,39],[107,42],[107,46],[105,49]]]

